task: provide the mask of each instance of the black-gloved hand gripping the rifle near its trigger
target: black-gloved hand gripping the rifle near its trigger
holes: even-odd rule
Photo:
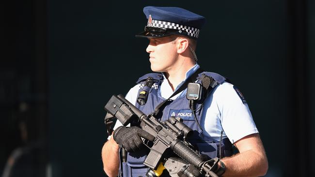
[[[139,150],[142,146],[142,138],[154,141],[155,137],[140,129],[139,127],[118,127],[114,133],[113,138],[121,148],[125,148],[127,152],[134,152]]]

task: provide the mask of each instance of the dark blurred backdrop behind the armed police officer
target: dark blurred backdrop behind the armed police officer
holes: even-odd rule
[[[146,5],[206,17],[198,63],[242,90],[267,176],[315,176],[314,0],[1,3],[2,177],[105,176],[103,106],[150,72]]]

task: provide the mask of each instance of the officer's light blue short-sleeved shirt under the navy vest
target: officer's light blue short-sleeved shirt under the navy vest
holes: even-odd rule
[[[200,66],[196,63],[186,73],[185,80],[199,67]],[[163,98],[167,99],[173,94],[173,89],[164,74],[163,76],[164,80],[160,86],[160,94]],[[185,80],[183,80],[177,88],[179,88]],[[126,99],[130,103],[136,103],[139,88],[140,85],[138,84],[131,88],[126,94]],[[174,100],[182,94],[186,94],[186,89],[173,96],[171,99]],[[223,131],[223,139],[228,137],[232,143],[235,143],[237,140],[247,135],[258,133],[247,103],[244,103],[240,99],[235,88],[230,83],[224,82],[213,88],[212,94],[205,99],[203,111],[200,125],[204,130],[204,134],[210,136],[212,139],[219,141],[221,131]],[[122,126],[122,124],[117,121],[114,129],[119,126]]]

